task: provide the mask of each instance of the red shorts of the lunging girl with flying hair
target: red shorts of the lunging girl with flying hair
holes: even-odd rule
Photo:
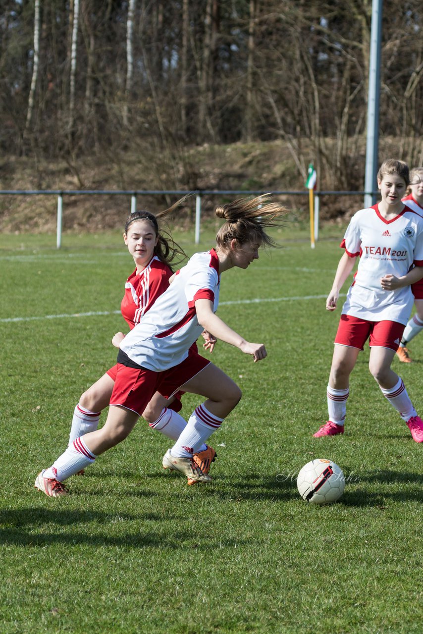
[[[185,361],[163,372],[153,372],[145,368],[128,368],[126,365],[117,363],[110,405],[121,405],[141,416],[155,392],[160,392],[164,398],[170,398],[178,392],[181,385],[204,370],[209,363],[208,359],[192,352]]]

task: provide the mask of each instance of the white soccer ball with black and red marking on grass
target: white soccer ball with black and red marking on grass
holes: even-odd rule
[[[342,469],[332,460],[316,458],[311,460],[297,477],[299,495],[313,504],[330,504],[339,500],[345,488]]]

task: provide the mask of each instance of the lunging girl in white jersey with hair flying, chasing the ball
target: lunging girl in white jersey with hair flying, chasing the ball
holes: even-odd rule
[[[193,411],[178,440],[166,452],[165,469],[178,470],[197,482],[210,482],[210,465],[198,465],[193,455],[237,405],[241,391],[225,372],[204,359],[191,346],[203,330],[238,347],[254,361],[266,357],[264,344],[251,343],[232,330],[215,311],[222,273],[233,267],[247,269],[258,259],[261,245],[275,245],[266,228],[280,224],[285,207],[268,197],[235,200],[216,209],[225,224],[216,247],[195,254],[160,295],[141,323],[120,344],[117,374],[104,427],[77,439],[54,464],[54,478],[65,481],[97,456],[124,440],[155,392],[165,398],[178,390],[200,394],[205,402]],[[212,350],[214,344],[209,344]],[[49,476],[49,478],[48,478]],[[36,488],[46,495],[42,470]],[[61,493],[68,493],[65,486]]]

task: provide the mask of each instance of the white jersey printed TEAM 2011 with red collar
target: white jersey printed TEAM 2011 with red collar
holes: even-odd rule
[[[407,324],[414,301],[410,286],[382,290],[381,278],[389,273],[400,277],[413,265],[423,266],[423,217],[407,206],[391,220],[381,216],[377,204],[360,209],[341,247],[350,257],[360,256],[342,314]]]

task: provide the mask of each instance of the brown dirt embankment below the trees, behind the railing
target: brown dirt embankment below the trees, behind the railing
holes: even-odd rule
[[[259,190],[304,191],[304,196],[283,196],[294,210],[308,209],[303,171],[281,141],[236,143],[227,146],[192,148],[172,157],[155,153],[110,153],[83,157],[72,162],[3,157],[0,160],[0,190],[125,190],[195,191]],[[319,186],[322,188],[322,185]],[[325,186],[327,187],[327,185]],[[334,188],[340,189],[340,187]],[[138,195],[137,208],[157,212],[174,203],[178,194]],[[204,195],[202,212],[230,200],[230,196]],[[344,217],[358,209],[362,197],[326,198],[322,219]],[[57,195],[0,195],[0,230],[3,232],[54,232]],[[129,195],[65,195],[63,231],[98,231],[122,227],[131,209]],[[181,225],[193,220],[192,198],[179,213]]]

